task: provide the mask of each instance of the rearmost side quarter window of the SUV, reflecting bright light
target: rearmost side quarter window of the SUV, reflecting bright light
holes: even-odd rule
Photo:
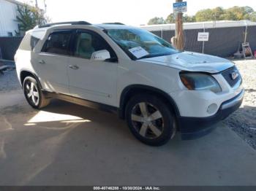
[[[34,47],[37,46],[39,40],[42,40],[44,36],[45,31],[34,31],[27,33],[26,36],[24,36],[22,42],[20,43],[19,50],[33,51]]]

